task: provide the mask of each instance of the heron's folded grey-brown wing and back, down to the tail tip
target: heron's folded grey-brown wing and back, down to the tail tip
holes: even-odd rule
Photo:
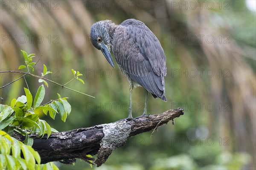
[[[116,28],[113,41],[119,67],[154,97],[166,100],[166,57],[150,29],[138,20],[125,20]]]

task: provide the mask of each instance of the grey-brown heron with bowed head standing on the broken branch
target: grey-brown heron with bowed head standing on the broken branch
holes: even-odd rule
[[[128,19],[120,25],[111,20],[93,24],[90,40],[95,48],[101,50],[109,64],[114,68],[113,58],[129,82],[129,115],[132,117],[132,91],[141,86],[145,88],[145,106],[142,116],[148,116],[148,92],[154,98],[166,100],[165,82],[166,57],[154,33],[141,21]]]

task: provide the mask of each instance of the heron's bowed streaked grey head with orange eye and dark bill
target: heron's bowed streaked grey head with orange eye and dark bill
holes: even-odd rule
[[[113,26],[111,20],[94,23],[90,30],[90,40],[95,48],[101,50],[109,64],[114,68],[111,57],[111,41],[113,40]]]

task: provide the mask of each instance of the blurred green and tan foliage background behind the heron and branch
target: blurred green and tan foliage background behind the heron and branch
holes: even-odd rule
[[[64,123],[41,115],[58,131],[110,123],[128,116],[128,81],[108,64],[90,42],[90,28],[99,20],[116,24],[135,18],[159,39],[166,54],[167,102],[148,98],[148,113],[177,107],[184,115],[143,133],[113,151],[102,167],[93,169],[256,169],[256,5],[254,0],[84,0],[0,1],[0,69],[24,64],[20,50],[35,53],[34,74],[43,64],[49,78],[65,84],[80,71],[85,84],[67,87],[49,82],[43,103],[69,97],[72,112]],[[1,74],[0,86],[20,77]],[[33,96],[41,85],[26,76]],[[0,89],[1,103],[24,94],[23,79]],[[133,116],[144,108],[143,88],[133,91]],[[96,158],[96,156],[94,156]],[[56,163],[60,169],[90,169]]]

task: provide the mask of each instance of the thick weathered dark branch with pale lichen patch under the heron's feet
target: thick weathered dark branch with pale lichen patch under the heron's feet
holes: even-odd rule
[[[94,163],[101,166],[116,147],[121,147],[127,142],[128,137],[155,130],[180,115],[183,115],[183,109],[177,108],[149,117],[140,117],[135,121],[121,120],[53,133],[48,139],[46,135],[43,138],[32,135],[34,138],[32,147],[40,154],[42,164],[49,161],[61,161],[70,164],[75,162],[76,158],[88,162],[94,159],[86,155],[98,154]]]

